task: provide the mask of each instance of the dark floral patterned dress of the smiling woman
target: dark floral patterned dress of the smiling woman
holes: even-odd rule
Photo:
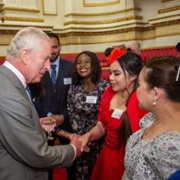
[[[102,94],[109,83],[103,79],[95,86],[92,92],[85,92],[83,84],[70,86],[68,92],[68,114],[74,133],[83,135],[97,123],[98,107]],[[87,96],[97,97],[96,103],[88,103]],[[96,159],[102,148],[103,140],[92,144],[90,153],[83,153],[75,160],[76,178],[78,180],[88,180],[93,170]]]

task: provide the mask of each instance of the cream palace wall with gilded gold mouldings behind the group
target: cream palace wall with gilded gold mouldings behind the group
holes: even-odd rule
[[[0,0],[0,57],[26,26],[54,31],[62,53],[102,52],[138,40],[143,49],[180,41],[177,0]]]

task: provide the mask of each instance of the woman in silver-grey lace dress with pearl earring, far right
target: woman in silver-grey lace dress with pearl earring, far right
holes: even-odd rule
[[[180,59],[149,60],[139,76],[137,98],[153,122],[130,136],[125,155],[126,180],[165,180],[180,169]]]

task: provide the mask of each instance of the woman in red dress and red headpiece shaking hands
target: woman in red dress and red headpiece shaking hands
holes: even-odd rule
[[[139,129],[139,120],[146,113],[139,108],[135,94],[142,68],[140,56],[116,47],[110,51],[107,59],[110,63],[111,86],[103,94],[98,123],[79,138],[84,148],[88,142],[106,135],[91,180],[122,178],[127,139]]]

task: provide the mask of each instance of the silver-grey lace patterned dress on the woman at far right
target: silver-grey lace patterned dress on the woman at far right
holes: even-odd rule
[[[154,120],[152,113],[146,116]],[[180,169],[180,133],[166,132],[152,140],[142,140],[145,130],[146,127],[140,129],[128,140],[126,180],[165,180]]]

